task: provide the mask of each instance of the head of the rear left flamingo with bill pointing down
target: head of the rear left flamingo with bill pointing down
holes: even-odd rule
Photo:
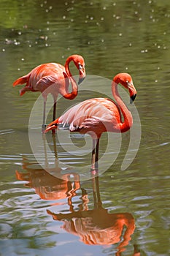
[[[79,69],[79,81],[78,84],[82,83],[85,79],[85,61],[80,55],[73,55],[73,61],[77,69]]]

